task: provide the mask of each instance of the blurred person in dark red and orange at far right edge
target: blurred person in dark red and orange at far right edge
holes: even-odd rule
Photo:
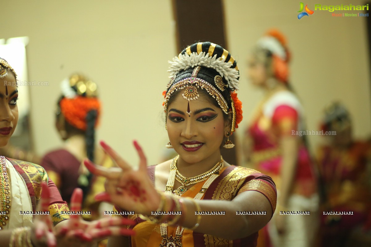
[[[326,107],[322,130],[335,132],[318,150],[321,211],[353,215],[322,215],[321,246],[371,246],[371,143],[354,140],[351,116],[339,102]]]

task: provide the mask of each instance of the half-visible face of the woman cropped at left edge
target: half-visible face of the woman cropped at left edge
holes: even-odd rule
[[[8,71],[8,75],[0,79],[0,147],[8,143],[17,126],[17,99],[16,78]]]

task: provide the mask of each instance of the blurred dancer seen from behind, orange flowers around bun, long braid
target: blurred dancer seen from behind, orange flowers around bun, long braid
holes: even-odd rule
[[[99,217],[94,196],[104,191],[104,181],[93,177],[82,165],[84,158],[104,166],[112,162],[101,149],[95,149],[95,129],[99,121],[101,102],[98,99],[97,86],[88,78],[73,74],[61,83],[62,96],[57,102],[55,127],[63,139],[64,145],[47,153],[41,166],[60,190],[63,200],[69,198],[76,187],[82,188],[84,210],[91,215],[84,215],[88,220]],[[109,207],[109,210],[112,206]]]

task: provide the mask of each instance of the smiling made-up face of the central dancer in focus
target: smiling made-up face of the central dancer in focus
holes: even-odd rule
[[[182,93],[173,96],[167,113],[167,132],[174,150],[187,163],[220,157],[221,143],[230,130],[223,111],[200,94],[199,99],[189,101],[188,114],[188,101]]]

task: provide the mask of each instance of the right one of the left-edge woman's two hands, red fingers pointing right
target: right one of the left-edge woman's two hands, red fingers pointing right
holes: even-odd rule
[[[81,204],[82,190],[76,188],[71,197],[70,211],[81,211]],[[121,217],[107,217],[95,221],[85,221],[81,216],[71,214],[65,226],[58,229],[56,236],[58,243],[66,240],[69,242],[75,240],[75,244],[78,245],[76,238],[81,242],[90,242],[98,241],[108,236],[133,235],[135,232],[127,228],[127,225],[131,224],[134,224],[134,221]]]

